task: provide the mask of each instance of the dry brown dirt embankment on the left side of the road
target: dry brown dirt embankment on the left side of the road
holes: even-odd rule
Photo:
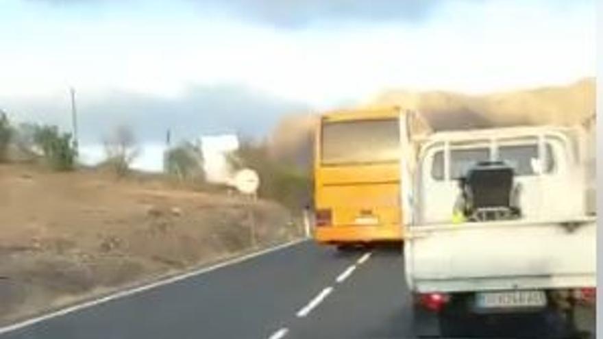
[[[292,240],[284,208],[226,194],[0,165],[0,324]]]

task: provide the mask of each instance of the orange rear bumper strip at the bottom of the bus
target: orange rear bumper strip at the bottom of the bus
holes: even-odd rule
[[[402,241],[399,226],[319,226],[314,238],[321,244],[345,244],[367,242]]]

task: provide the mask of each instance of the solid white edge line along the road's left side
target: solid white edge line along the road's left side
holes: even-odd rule
[[[268,254],[271,253],[273,251],[278,251],[280,249],[284,249],[286,247],[291,247],[295,244],[299,244],[302,242],[305,242],[306,240],[308,240],[308,238],[302,238],[302,239],[298,239],[298,240],[293,240],[291,242],[286,242],[284,244],[280,244],[277,245],[275,247],[270,247],[268,249],[262,249],[261,251],[257,251],[254,253],[249,253],[246,255],[243,255],[241,257],[238,258],[234,258],[232,260],[227,260],[225,262],[219,262],[218,264],[214,264],[212,266],[208,266],[205,268],[199,268],[196,271],[192,271],[192,272],[188,272],[188,273],[184,273],[182,275],[177,275],[175,277],[169,277],[166,279],[161,279],[159,281],[153,282],[151,284],[147,284],[147,285],[143,285],[143,286],[138,286],[136,288],[130,288],[127,290],[121,290],[119,292],[115,292],[113,294],[109,294],[106,297],[102,297],[99,299],[94,299],[94,300],[90,300],[90,301],[86,301],[84,303],[79,303],[77,305],[73,305],[73,306],[69,306],[69,307],[65,307],[61,310],[55,311],[55,312],[50,312],[48,314],[43,314],[41,316],[36,316],[35,318],[30,318],[27,319],[25,321],[21,321],[19,323],[14,323],[12,325],[8,325],[5,327],[0,327],[0,334],[5,334],[8,333],[10,331],[15,331],[17,329],[22,329],[23,327],[27,327],[27,326],[31,326],[34,325],[36,323],[40,323],[42,321],[47,321],[51,318],[56,318],[58,316],[64,316],[65,314],[69,314],[69,313],[73,313],[79,310],[84,310],[85,308],[88,307],[92,307],[95,305],[100,305],[101,303],[106,303],[108,301],[112,301],[115,299],[121,299],[123,297],[129,297],[133,294],[138,294],[140,292],[145,292],[147,290],[151,290],[153,288],[157,288],[160,286],[164,286],[164,285],[169,285],[169,284],[173,284],[177,281],[181,281],[190,277],[195,277],[196,275],[202,275],[204,273],[209,273],[211,271],[215,271],[218,268],[223,268],[225,266],[230,266],[230,265],[234,265],[234,264],[238,264],[241,262],[244,262],[246,260],[249,260],[251,258],[255,258],[258,257],[260,255],[264,255],[264,254]]]

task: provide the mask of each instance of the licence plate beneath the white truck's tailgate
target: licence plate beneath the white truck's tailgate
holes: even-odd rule
[[[476,302],[480,308],[543,307],[546,296],[543,291],[482,292]]]

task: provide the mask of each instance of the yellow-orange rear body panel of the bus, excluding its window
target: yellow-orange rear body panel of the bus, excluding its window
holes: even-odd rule
[[[323,121],[398,118],[399,109],[339,111]],[[315,208],[330,210],[332,225],[316,226],[314,238],[324,244],[401,241],[399,162],[321,166],[321,125],[315,135]],[[362,220],[370,223],[360,223]]]

